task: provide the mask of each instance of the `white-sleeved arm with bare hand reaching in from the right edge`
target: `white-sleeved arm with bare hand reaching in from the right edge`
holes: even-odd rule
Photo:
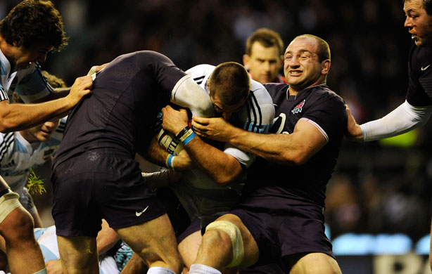
[[[352,141],[374,141],[411,131],[428,122],[432,106],[414,107],[406,100],[381,119],[359,125],[347,107],[348,129],[346,136]]]

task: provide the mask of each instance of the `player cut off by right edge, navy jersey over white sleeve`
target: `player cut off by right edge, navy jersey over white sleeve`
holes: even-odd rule
[[[354,141],[374,141],[416,129],[432,114],[432,1],[405,0],[405,24],[414,45],[409,52],[407,98],[381,119],[359,125],[348,105],[347,137]],[[432,227],[429,262],[432,269]]]

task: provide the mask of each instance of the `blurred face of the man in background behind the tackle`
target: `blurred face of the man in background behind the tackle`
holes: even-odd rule
[[[277,79],[277,74],[282,66],[282,58],[279,56],[277,46],[266,48],[260,42],[255,41],[250,50],[250,56],[243,56],[243,64],[248,67],[252,79],[260,83],[270,83]]]

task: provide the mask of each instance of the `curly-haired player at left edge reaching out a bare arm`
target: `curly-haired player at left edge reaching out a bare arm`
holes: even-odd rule
[[[10,104],[15,90],[27,103],[53,98],[38,62],[49,51],[60,51],[67,38],[61,16],[50,1],[25,0],[0,21],[0,131],[28,129],[64,115],[90,92],[91,77],[81,77],[63,98],[39,104]],[[0,148],[0,153],[4,152]],[[0,235],[12,273],[46,273],[42,252],[33,234],[31,215],[0,176]]]

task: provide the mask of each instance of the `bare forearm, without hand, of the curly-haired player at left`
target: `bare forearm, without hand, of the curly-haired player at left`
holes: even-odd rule
[[[67,98],[38,104],[10,104],[0,102],[0,131],[20,131],[65,115],[72,108]]]

